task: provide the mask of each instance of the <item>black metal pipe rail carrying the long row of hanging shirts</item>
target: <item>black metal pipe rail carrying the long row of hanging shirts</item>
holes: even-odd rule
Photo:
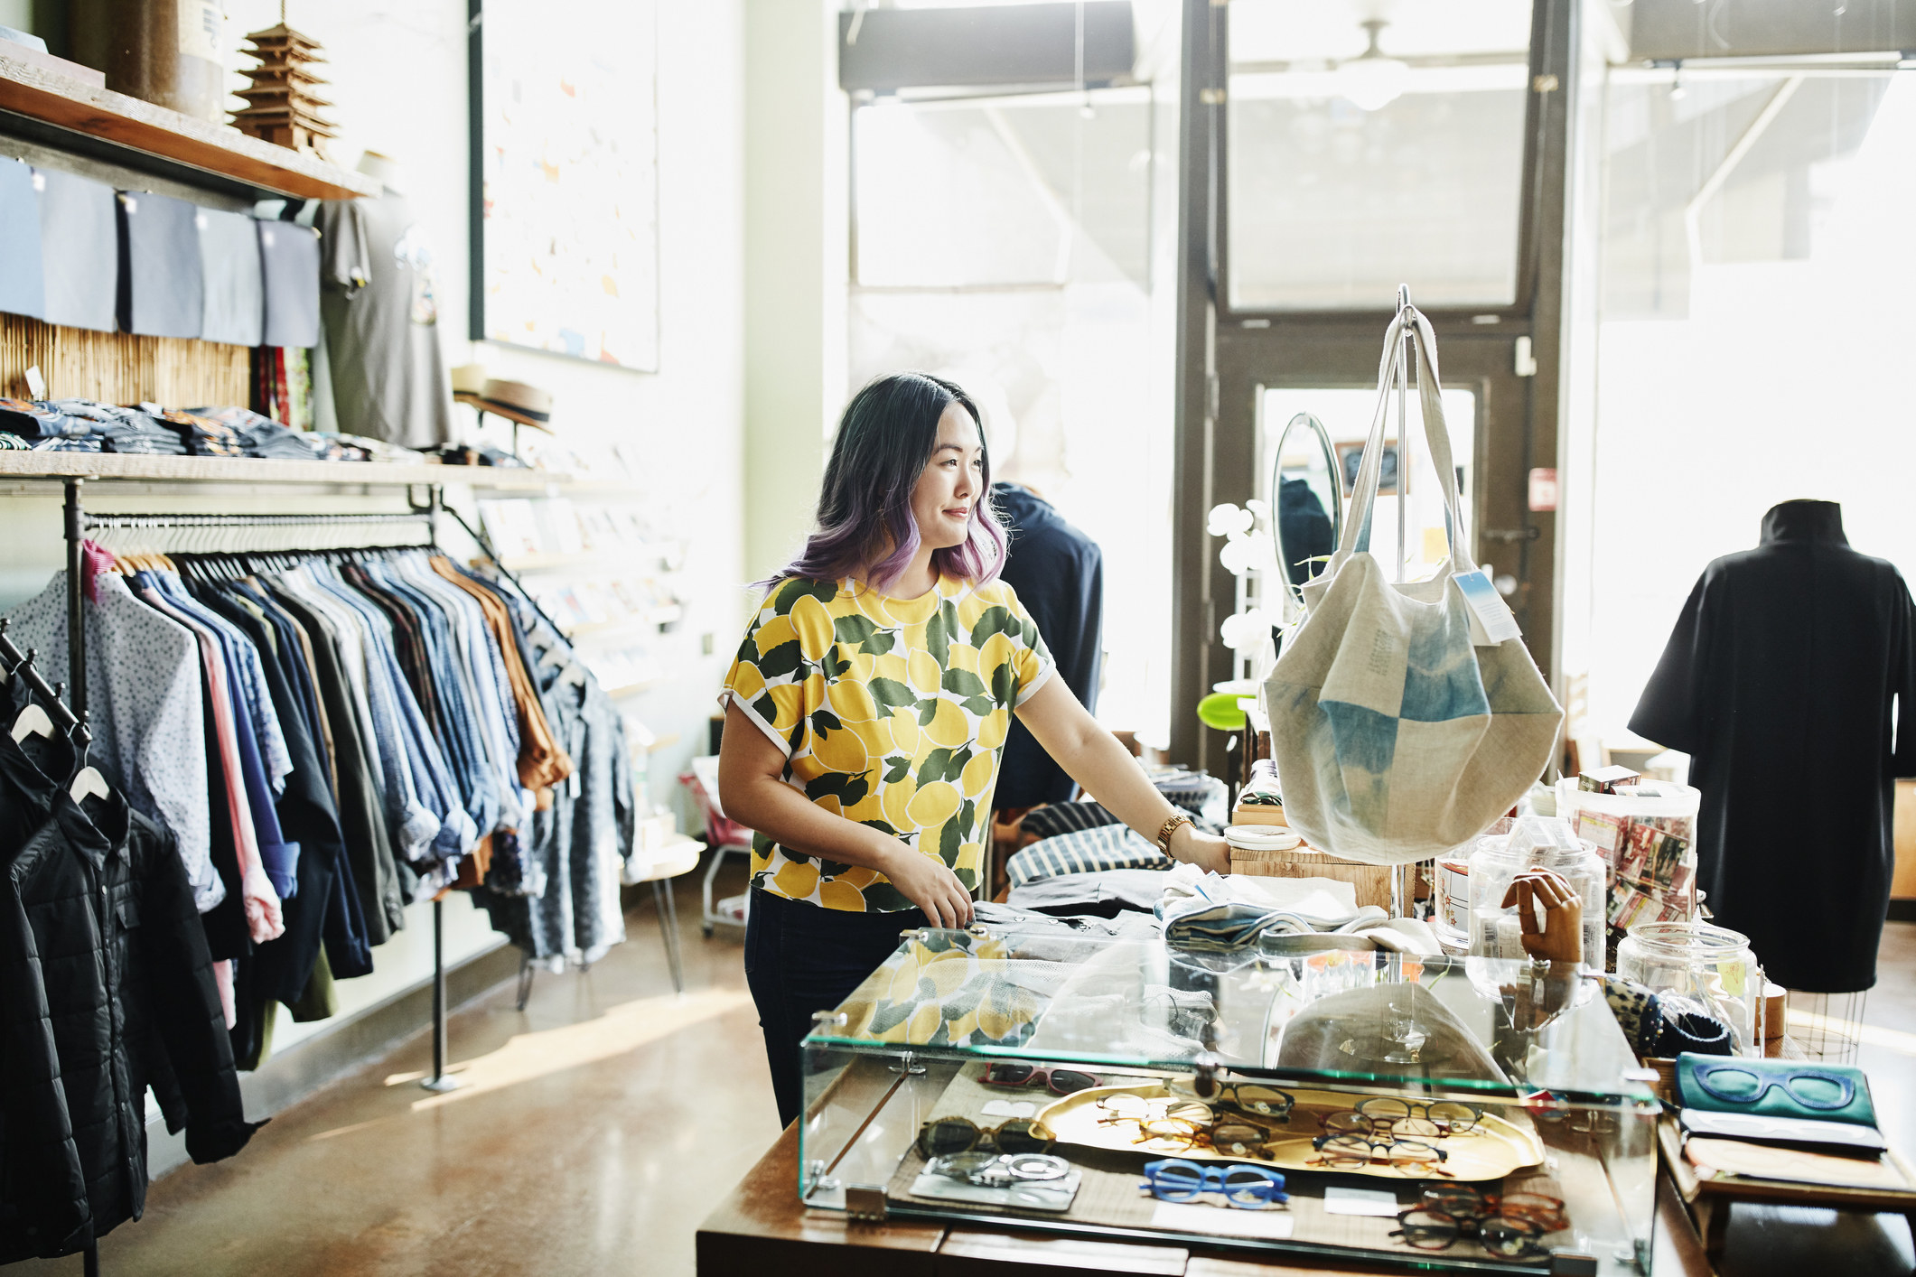
[[[88,515],[80,504],[80,479],[67,479],[67,655],[73,676],[73,708],[84,731],[86,724],[86,615],[80,609],[82,551],[86,534],[107,528],[299,528],[299,526],[368,526],[425,521],[425,546],[439,546],[439,515],[446,511],[439,484],[427,488],[423,505],[408,496],[410,509],[381,515]],[[458,519],[458,515],[454,515]],[[466,521],[460,519],[460,526]],[[517,580],[513,582],[519,584]],[[523,592],[521,592],[523,594]],[[544,615],[544,613],[540,613]],[[420,1080],[427,1091],[458,1089],[458,1078],[446,1074],[446,955],[445,955],[445,892],[433,898],[433,1072]],[[90,1269],[92,1271],[92,1269]]]

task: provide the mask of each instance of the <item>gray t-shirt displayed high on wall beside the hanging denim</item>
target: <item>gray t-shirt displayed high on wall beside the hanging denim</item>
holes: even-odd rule
[[[320,316],[341,431],[406,448],[452,438],[433,251],[397,191],[320,207]]]

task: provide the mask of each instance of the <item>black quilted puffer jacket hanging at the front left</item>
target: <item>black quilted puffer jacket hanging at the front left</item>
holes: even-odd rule
[[[50,816],[0,873],[0,1262],[140,1218],[148,1086],[195,1162],[255,1130],[171,835],[119,795],[82,812],[21,779],[0,804]]]

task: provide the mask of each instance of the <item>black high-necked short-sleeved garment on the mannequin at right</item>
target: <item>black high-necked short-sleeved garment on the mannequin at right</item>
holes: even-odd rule
[[[1891,703],[1895,701],[1895,708]],[[1916,775],[1916,609],[1834,502],[1784,502],[1711,563],[1631,716],[1690,754],[1698,886],[1770,980],[1876,984],[1895,777]]]

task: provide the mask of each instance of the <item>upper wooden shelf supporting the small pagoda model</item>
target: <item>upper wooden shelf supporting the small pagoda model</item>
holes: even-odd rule
[[[295,199],[379,193],[379,184],[364,174],[8,54],[0,54],[0,111],[25,117],[29,124],[50,126],[59,136],[19,128],[19,121],[10,119],[0,119],[0,132],[31,132],[40,142],[115,159],[128,168],[157,168],[182,182],[195,182],[199,174],[199,184],[238,184]]]

